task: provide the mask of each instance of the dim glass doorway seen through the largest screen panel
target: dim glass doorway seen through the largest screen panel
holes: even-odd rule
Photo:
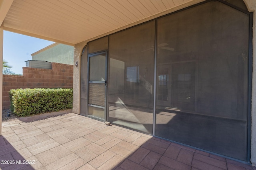
[[[158,67],[157,106],[195,111],[196,63],[178,62]]]

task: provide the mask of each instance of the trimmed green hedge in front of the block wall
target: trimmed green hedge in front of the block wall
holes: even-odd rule
[[[11,111],[20,117],[72,108],[72,89],[25,88],[10,90]]]

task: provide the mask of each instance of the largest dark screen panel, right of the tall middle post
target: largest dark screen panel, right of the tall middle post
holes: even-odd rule
[[[246,160],[248,30],[218,1],[158,20],[157,136]]]

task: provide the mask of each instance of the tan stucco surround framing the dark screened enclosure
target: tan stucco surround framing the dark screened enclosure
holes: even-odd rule
[[[166,11],[165,13],[174,12],[176,10],[180,10],[182,8],[191,6],[193,4],[197,4],[198,2],[203,2],[204,0],[193,0],[188,3],[185,3],[181,6],[178,6],[176,8],[173,8],[171,10]],[[255,0],[244,0],[248,11],[254,12],[254,19],[253,19],[253,72],[252,72],[252,139],[251,139],[251,162],[254,166],[256,166],[256,1]],[[159,15],[159,14],[158,14]],[[114,30],[111,33],[114,33],[115,31],[119,31],[121,29],[125,29],[127,27],[136,25],[138,23],[142,23],[146,20],[151,20],[153,18],[156,18],[158,16],[152,16],[150,18],[147,18],[145,20],[141,20],[139,22],[133,23],[131,25],[127,25],[126,27],[119,28],[118,30]],[[110,33],[108,33],[110,34]],[[107,34],[105,34],[107,35]],[[104,35],[101,35],[99,37],[103,37]],[[99,38],[95,37],[93,39]],[[93,39],[84,41],[82,43],[78,43],[74,47],[74,62],[78,61],[78,67],[74,66],[74,92],[73,92],[73,112],[80,114],[80,57],[82,53],[83,47],[86,45],[88,41],[92,41]]]

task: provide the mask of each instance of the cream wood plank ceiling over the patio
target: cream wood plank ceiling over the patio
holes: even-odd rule
[[[14,0],[4,18],[4,30],[74,45],[188,1]]]

